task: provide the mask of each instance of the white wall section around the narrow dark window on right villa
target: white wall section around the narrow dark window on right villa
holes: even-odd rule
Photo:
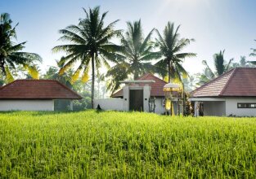
[[[237,103],[256,103],[256,98],[226,98],[227,116],[256,116],[256,108],[237,108]]]

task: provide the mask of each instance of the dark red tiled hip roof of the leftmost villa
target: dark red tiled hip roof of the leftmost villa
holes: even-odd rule
[[[0,88],[1,99],[81,99],[82,97],[53,80],[16,80]]]

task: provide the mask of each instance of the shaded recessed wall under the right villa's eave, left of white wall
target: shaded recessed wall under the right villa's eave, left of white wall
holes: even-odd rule
[[[204,116],[225,116],[225,102],[204,102]]]

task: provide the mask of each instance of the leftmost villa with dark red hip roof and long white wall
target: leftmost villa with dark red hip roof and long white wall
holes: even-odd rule
[[[79,94],[53,80],[16,80],[0,87],[0,111],[54,111],[54,100],[81,99]]]

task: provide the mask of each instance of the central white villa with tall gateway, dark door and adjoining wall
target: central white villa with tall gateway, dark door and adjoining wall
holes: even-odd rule
[[[152,111],[164,114],[164,85],[167,83],[153,74],[147,73],[135,81],[120,81],[125,84],[111,98],[96,99],[94,108],[98,105],[103,110],[115,111]],[[154,109],[151,110],[152,105]],[[177,113],[177,102],[173,104]],[[182,109],[180,109],[182,111]]]

